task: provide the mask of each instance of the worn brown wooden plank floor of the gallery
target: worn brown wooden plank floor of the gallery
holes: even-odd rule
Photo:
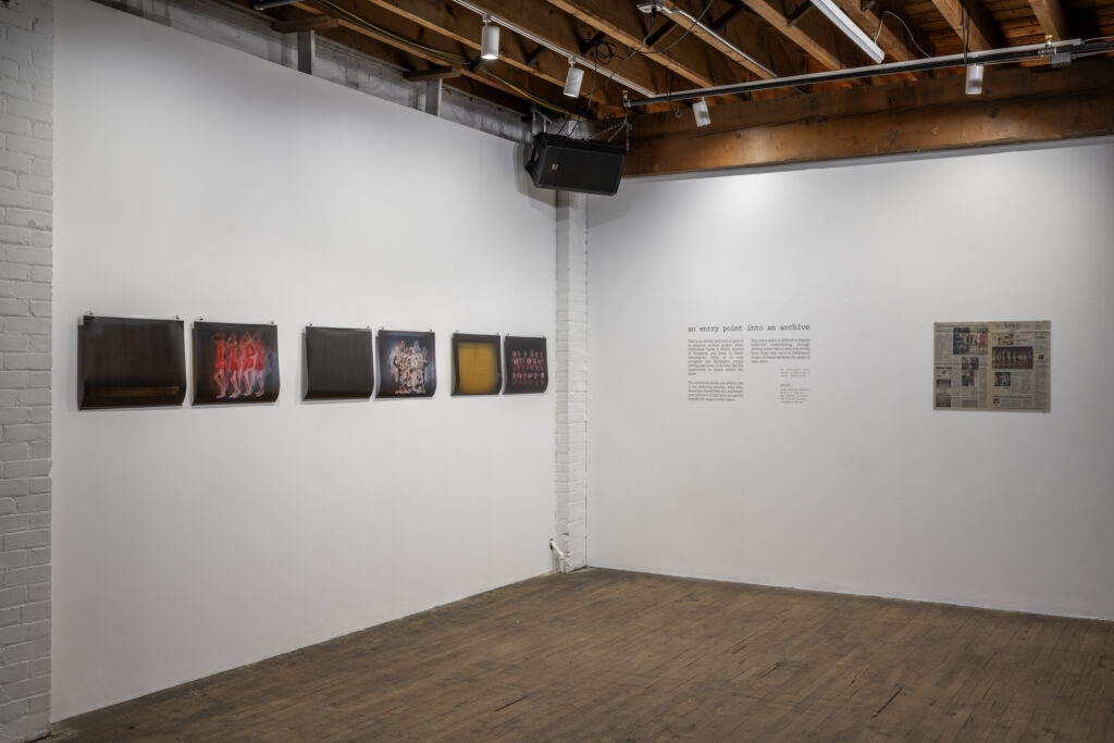
[[[1114,741],[1114,623],[587,569],[50,740]]]

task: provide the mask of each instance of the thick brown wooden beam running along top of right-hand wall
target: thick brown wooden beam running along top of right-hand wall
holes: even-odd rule
[[[632,117],[626,176],[769,167],[1114,134],[1114,58],[996,69],[981,96],[962,76],[726,104],[694,128]]]

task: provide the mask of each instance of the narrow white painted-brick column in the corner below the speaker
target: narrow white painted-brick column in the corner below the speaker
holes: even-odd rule
[[[587,197],[557,193],[557,546],[568,567],[588,563],[588,232]]]

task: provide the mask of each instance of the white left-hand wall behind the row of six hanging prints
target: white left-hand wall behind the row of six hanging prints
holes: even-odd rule
[[[546,573],[554,395],[450,397],[450,336],[554,336],[515,145],[57,3],[52,717]],[[274,321],[277,403],[78,411],[78,320]],[[307,323],[437,332],[431,400],[304,403]]]

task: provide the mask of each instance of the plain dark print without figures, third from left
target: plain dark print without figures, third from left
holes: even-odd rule
[[[305,329],[306,400],[367,400],[375,390],[371,330]]]

